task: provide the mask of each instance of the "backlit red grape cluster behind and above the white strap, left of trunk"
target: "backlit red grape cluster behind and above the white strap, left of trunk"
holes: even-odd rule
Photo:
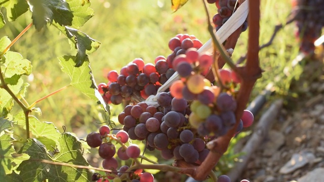
[[[123,101],[135,100],[138,103],[150,95],[156,95],[157,89],[167,82],[175,73],[174,59],[184,54],[189,48],[199,49],[203,45],[194,35],[178,34],[169,41],[173,51],[167,58],[157,56],[154,64],[145,64],[143,59],[136,58],[120,69],[109,71],[109,82],[98,85],[99,93],[106,103],[118,105]]]

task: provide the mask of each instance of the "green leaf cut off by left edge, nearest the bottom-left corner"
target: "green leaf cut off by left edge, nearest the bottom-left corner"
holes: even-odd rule
[[[16,153],[12,144],[13,141],[14,139],[7,133],[0,136],[0,165],[2,166],[0,168],[0,179],[5,178],[6,174],[12,173],[12,170],[15,170],[23,160],[29,158],[26,154],[13,157],[12,154]]]

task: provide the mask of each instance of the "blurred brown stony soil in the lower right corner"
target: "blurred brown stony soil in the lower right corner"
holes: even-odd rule
[[[305,65],[302,77],[292,83],[290,90],[298,97],[285,98],[284,108],[250,158],[241,179],[253,182],[324,181],[323,73],[322,61],[310,61]],[[311,171],[315,173],[301,178]]]

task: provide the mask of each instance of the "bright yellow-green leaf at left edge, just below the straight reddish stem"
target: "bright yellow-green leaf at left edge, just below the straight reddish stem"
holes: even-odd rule
[[[23,59],[21,54],[8,51],[5,54],[6,62],[1,66],[6,78],[17,75],[29,75],[31,73],[31,63]]]

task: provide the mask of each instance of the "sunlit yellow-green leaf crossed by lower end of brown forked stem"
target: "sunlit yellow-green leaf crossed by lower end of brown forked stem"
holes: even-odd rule
[[[13,121],[26,129],[26,120],[23,112],[15,115]],[[36,117],[29,115],[29,130],[33,137],[41,141],[46,148],[52,149],[51,146],[56,147],[59,145],[58,140],[61,137],[61,133],[52,122],[42,122]]]

